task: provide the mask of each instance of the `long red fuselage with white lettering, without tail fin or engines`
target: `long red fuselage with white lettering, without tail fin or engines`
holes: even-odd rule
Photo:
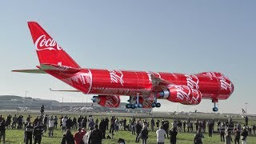
[[[152,80],[150,74],[174,85],[186,85],[200,90],[202,98],[227,99],[234,90],[232,82],[221,73],[178,74],[129,70],[82,69],[76,74],[60,74],[46,71],[84,94],[106,94],[150,97]]]

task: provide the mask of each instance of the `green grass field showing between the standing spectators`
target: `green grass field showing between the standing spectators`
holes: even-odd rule
[[[26,114],[23,114],[26,118]],[[72,115],[71,118],[73,118],[73,116],[76,116],[78,118],[78,115]],[[33,119],[36,117],[35,114],[32,115],[32,121]],[[106,116],[103,116],[104,118]],[[6,118],[6,116],[5,116]],[[59,118],[59,116],[58,116]],[[94,116],[94,119],[96,118],[100,118],[100,116]],[[110,117],[109,117],[110,118]],[[122,117],[124,118],[124,117]],[[126,119],[130,119],[128,117],[126,117]],[[150,118],[147,118],[148,121],[150,120]],[[156,118],[157,119],[157,118]],[[161,119],[161,118],[159,118]],[[170,122],[173,121],[173,119],[168,119]],[[250,123],[256,123],[255,121],[250,122]],[[171,126],[171,125],[170,125]],[[75,133],[75,130],[72,130],[72,133]],[[109,131],[106,131],[106,135],[109,134]],[[194,134],[195,133],[178,133],[178,140],[177,143],[178,144],[191,144],[193,143],[194,140]],[[110,135],[110,134],[109,134]],[[111,135],[110,135],[111,136]],[[205,138],[203,138],[203,143],[205,144],[217,144],[217,143],[224,143],[224,142],[220,142],[220,136],[219,134],[213,134],[213,137],[209,138],[208,134],[204,134]],[[23,130],[6,130],[6,143],[23,143],[23,137],[24,137],[24,131]],[[102,143],[104,144],[116,144],[118,143],[118,138],[123,138],[126,140],[126,143],[128,144],[134,144],[135,143],[135,138],[136,135],[132,135],[130,131],[124,131],[124,130],[119,130],[118,132],[116,132],[114,134],[114,138],[113,139],[104,139],[102,141]],[[234,136],[233,136],[234,138]],[[43,138],[42,138],[42,144],[58,144],[60,143],[62,140],[62,132],[60,130],[60,128],[58,127],[57,130],[54,130],[54,137],[53,138],[48,138],[48,134],[47,132],[44,134]],[[140,142],[141,143],[141,142]],[[150,131],[149,133],[149,138],[148,138],[148,144],[153,144],[156,143],[156,134],[155,131]],[[165,143],[169,143],[169,140],[166,138]],[[247,139],[247,143],[249,144],[256,144],[256,137],[255,136],[249,136]]]

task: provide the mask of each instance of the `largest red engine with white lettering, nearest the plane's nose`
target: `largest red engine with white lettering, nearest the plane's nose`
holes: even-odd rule
[[[189,86],[174,85],[169,86],[168,90],[158,93],[158,97],[184,105],[198,105],[202,100],[202,93],[199,90],[191,89]]]

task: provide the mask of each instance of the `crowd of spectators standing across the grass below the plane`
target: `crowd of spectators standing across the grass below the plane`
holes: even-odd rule
[[[30,115],[26,120],[22,115],[8,115],[3,118],[0,115],[0,143],[5,143],[6,129],[19,129],[24,130],[24,143],[41,143],[42,135],[46,134],[48,137],[54,137],[54,130],[60,126],[62,130],[63,144],[98,144],[102,143],[104,138],[114,138],[114,134],[118,130],[130,131],[131,135],[134,135],[134,142],[147,143],[149,138],[149,131],[155,131],[157,136],[156,142],[162,144],[166,138],[169,138],[171,144],[177,142],[178,133],[195,132],[194,143],[202,143],[202,138],[207,132],[208,137],[212,137],[213,133],[220,134],[220,141],[225,143],[246,143],[246,138],[250,134],[255,135],[256,126],[248,126],[248,118],[246,117],[245,125],[240,123],[234,124],[232,119],[228,119],[225,122],[214,122],[214,120],[195,120],[190,118],[187,120],[174,119],[174,122],[169,122],[166,119],[154,119],[151,118],[149,122],[142,118],[94,118],[91,114],[85,117],[80,115],[76,117],[68,117],[62,115],[61,117],[49,116],[48,114],[41,114],[32,120]],[[216,126],[215,126],[216,125]],[[216,129],[217,127],[217,129]],[[215,130],[215,129],[216,130]],[[77,130],[74,135],[71,130]],[[107,131],[109,130],[109,131]],[[46,133],[47,132],[47,133]],[[107,134],[106,134],[107,132]],[[109,133],[108,133],[109,132]],[[46,136],[45,135],[45,136]],[[234,135],[234,139],[232,136]],[[125,139],[120,138],[118,143],[125,143]]]

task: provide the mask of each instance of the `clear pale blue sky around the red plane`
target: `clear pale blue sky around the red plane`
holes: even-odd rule
[[[34,69],[38,57],[27,22],[38,22],[82,67],[197,74],[218,71],[234,93],[220,113],[256,114],[256,1],[6,1],[0,5],[0,95],[90,102],[91,95],[50,92],[70,86]],[[126,102],[128,97],[122,98]],[[162,102],[160,111],[211,112]],[[248,103],[246,105],[246,103]]]

